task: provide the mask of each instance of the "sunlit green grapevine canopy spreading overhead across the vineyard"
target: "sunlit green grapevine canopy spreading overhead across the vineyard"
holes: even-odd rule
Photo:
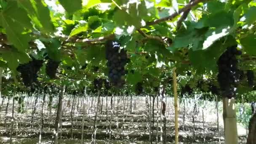
[[[125,89],[143,83],[146,93],[172,85],[177,68],[179,89],[218,87],[217,61],[237,44],[239,69],[254,70],[255,0],[0,0],[0,67],[3,88],[23,87],[19,64],[46,55],[60,61],[57,77],[45,73],[40,84],[90,88],[107,79],[104,44],[116,40],[128,54]],[[239,93],[253,88],[242,80]],[[171,88],[168,89],[171,91]]]

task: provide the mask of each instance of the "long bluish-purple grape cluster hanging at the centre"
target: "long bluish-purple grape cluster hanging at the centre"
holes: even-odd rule
[[[115,41],[108,41],[106,47],[107,67],[109,68],[109,80],[120,88],[124,85],[125,65],[128,63],[126,51],[120,49],[120,44]]]

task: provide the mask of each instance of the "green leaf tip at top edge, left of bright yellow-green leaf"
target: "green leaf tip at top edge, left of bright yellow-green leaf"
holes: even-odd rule
[[[82,9],[82,0],[59,0],[59,3],[61,3],[69,14],[73,14]]]

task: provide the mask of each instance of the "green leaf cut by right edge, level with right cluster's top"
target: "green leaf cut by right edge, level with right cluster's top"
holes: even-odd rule
[[[250,34],[247,35],[246,37],[243,37],[240,40],[240,43],[243,45],[245,48],[245,51],[248,54],[256,56],[256,49],[255,49],[255,43],[256,43],[256,35],[255,34]]]

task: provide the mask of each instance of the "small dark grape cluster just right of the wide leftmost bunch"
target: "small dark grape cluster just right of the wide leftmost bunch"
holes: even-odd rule
[[[49,59],[46,64],[46,74],[54,79],[56,77],[57,68],[59,67],[60,61],[54,61],[53,59]]]

